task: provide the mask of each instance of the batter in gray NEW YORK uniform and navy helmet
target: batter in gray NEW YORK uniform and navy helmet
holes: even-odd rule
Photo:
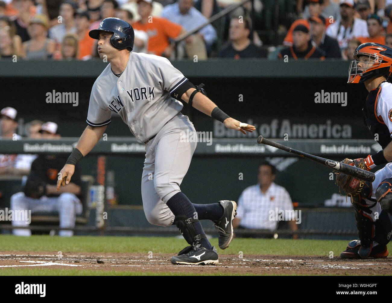
[[[219,247],[225,249],[233,238],[236,203],[224,200],[193,204],[181,192],[180,185],[197,143],[180,137],[181,133],[195,132],[189,118],[181,114],[180,101],[221,121],[227,128],[244,134],[256,128],[230,118],[166,58],[133,53],[134,31],[127,22],[106,18],[89,35],[98,39],[100,58],[107,58],[110,64],[93,85],[88,126],[61,170],[57,188],[70,182],[74,165],[93,149],[111,122],[111,114],[117,113],[138,141],[145,144],[142,199],[147,220],[160,226],[175,224],[190,245],[171,262],[218,263],[216,248],[207,240],[199,220],[214,222]]]

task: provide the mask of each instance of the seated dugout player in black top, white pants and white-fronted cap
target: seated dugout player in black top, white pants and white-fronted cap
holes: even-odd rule
[[[42,138],[53,140],[57,134],[57,124],[46,122],[42,124],[40,133]],[[57,212],[60,218],[60,228],[74,228],[76,214],[82,213],[80,170],[75,167],[72,182],[56,191],[58,172],[63,167],[67,157],[58,155],[39,155],[31,164],[31,171],[27,177],[23,192],[11,196],[11,210],[31,210],[34,212],[51,213]],[[22,219],[22,218],[16,218]],[[15,220],[11,222],[14,235],[29,236],[31,230],[23,228],[29,225],[27,220]],[[60,236],[72,236],[72,230],[60,230]]]

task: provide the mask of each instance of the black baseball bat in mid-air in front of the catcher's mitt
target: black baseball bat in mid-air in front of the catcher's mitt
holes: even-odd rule
[[[263,138],[263,136],[259,136],[257,138],[257,143],[267,144],[267,145],[279,148],[279,150],[284,150],[285,152],[294,153],[295,155],[298,155],[300,157],[304,157],[306,159],[315,161],[315,162],[323,164],[327,167],[334,168],[334,169],[338,170],[339,172],[345,173],[347,175],[350,175],[352,177],[355,177],[355,178],[358,178],[358,179],[361,179],[364,181],[373,182],[374,178],[376,178],[374,173],[368,172],[367,170],[363,170],[361,168],[351,166],[351,165],[348,165],[348,164],[345,164],[342,162],[333,161],[333,160],[317,157],[314,155],[310,155],[310,153],[305,153],[305,152],[301,152],[299,150],[294,150],[293,148],[290,148],[290,147],[284,146],[282,144],[265,139],[265,138]]]

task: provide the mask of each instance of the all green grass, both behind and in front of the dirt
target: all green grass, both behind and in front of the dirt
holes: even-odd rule
[[[334,256],[339,256],[340,252],[347,246],[347,241],[342,240],[292,240],[292,239],[240,239],[236,238],[226,250],[220,250],[219,254],[239,255],[270,255],[270,256],[329,256],[330,252]],[[218,247],[218,239],[211,241],[212,245]],[[85,252],[85,253],[126,253],[126,254],[176,254],[186,246],[183,239],[175,237],[92,237],[74,236],[63,238],[58,236],[35,235],[31,237],[15,237],[12,235],[0,235],[1,252],[53,252],[57,254],[62,251]],[[392,244],[388,245],[392,248]],[[271,272],[272,275],[281,275],[279,272]],[[320,273],[323,275],[322,273]],[[320,275],[318,274],[318,275]],[[346,274],[350,275],[350,272]],[[195,273],[187,272],[140,272],[128,270],[78,270],[76,268],[1,268],[0,276],[187,276],[187,275],[238,275],[236,272],[216,272],[216,273]],[[246,274],[247,275],[247,274]],[[256,275],[249,273],[249,275]],[[291,275],[291,274],[283,274]],[[295,275],[295,272],[292,273]]]

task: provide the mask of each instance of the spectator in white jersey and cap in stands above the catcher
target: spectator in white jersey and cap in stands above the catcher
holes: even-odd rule
[[[328,26],[326,34],[339,42],[341,51],[345,50],[348,41],[355,37],[369,37],[367,23],[354,18],[354,0],[340,0],[340,19]]]

